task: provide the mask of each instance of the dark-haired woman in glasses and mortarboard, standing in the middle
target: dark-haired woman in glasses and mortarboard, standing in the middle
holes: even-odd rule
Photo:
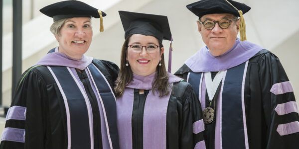
[[[119,11],[125,29],[116,81],[121,149],[205,149],[198,98],[189,83],[166,72],[166,16]]]

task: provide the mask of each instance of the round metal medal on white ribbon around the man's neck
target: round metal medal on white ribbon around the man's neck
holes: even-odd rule
[[[210,105],[209,105],[210,107],[206,107],[202,111],[202,113],[203,113],[203,122],[205,124],[210,124],[211,122],[213,122],[213,119],[214,119],[214,109],[211,108],[211,106],[212,106],[212,100],[213,100],[213,97],[215,96],[215,93],[217,91],[219,83],[222,80],[223,73],[224,73],[224,71],[218,72],[215,75],[213,81],[212,81],[211,72],[205,72],[204,73],[204,78],[205,78],[205,83],[206,83],[206,89],[207,89],[209,100],[210,100]],[[216,100],[216,96],[214,98],[214,108],[215,108],[215,100]]]

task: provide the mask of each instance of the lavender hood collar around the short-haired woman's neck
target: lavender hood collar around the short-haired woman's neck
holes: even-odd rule
[[[81,59],[73,59],[58,52],[58,47],[56,47],[54,52],[46,54],[35,65],[64,66],[84,70],[91,64],[92,60],[92,57],[87,57],[85,55],[83,55]]]

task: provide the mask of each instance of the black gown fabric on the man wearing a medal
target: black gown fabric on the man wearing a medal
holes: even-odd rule
[[[192,73],[183,65],[175,75],[186,79],[189,72]],[[284,136],[277,132],[278,125],[299,121],[297,112],[278,115],[275,111],[278,104],[295,101],[293,92],[278,95],[270,92],[273,84],[285,81],[289,81],[289,78],[279,59],[270,51],[262,50],[249,60],[244,91],[249,149],[299,149],[299,132]],[[220,92],[220,84],[215,94],[216,99]],[[205,107],[209,107],[207,93],[205,103]],[[211,105],[215,110],[213,122],[205,124],[204,138],[207,149],[214,149],[216,105]]]

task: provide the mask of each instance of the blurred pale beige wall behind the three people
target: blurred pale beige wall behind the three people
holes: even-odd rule
[[[3,0],[2,104],[11,102],[12,66],[12,0]],[[49,28],[52,18],[39,12],[45,5],[61,0],[22,0],[22,72],[56,47]],[[199,50],[204,43],[196,20],[185,5],[197,0],[81,0],[107,13],[104,32],[99,32],[99,19],[93,19],[93,41],[86,53],[96,59],[120,64],[124,30],[118,10],[166,15],[173,36],[172,73]],[[299,0],[237,0],[251,6],[244,15],[247,40],[272,51],[283,64],[299,98]],[[163,41],[168,62],[169,41]],[[299,99],[297,99],[298,102]],[[0,133],[4,119],[0,119]]]

